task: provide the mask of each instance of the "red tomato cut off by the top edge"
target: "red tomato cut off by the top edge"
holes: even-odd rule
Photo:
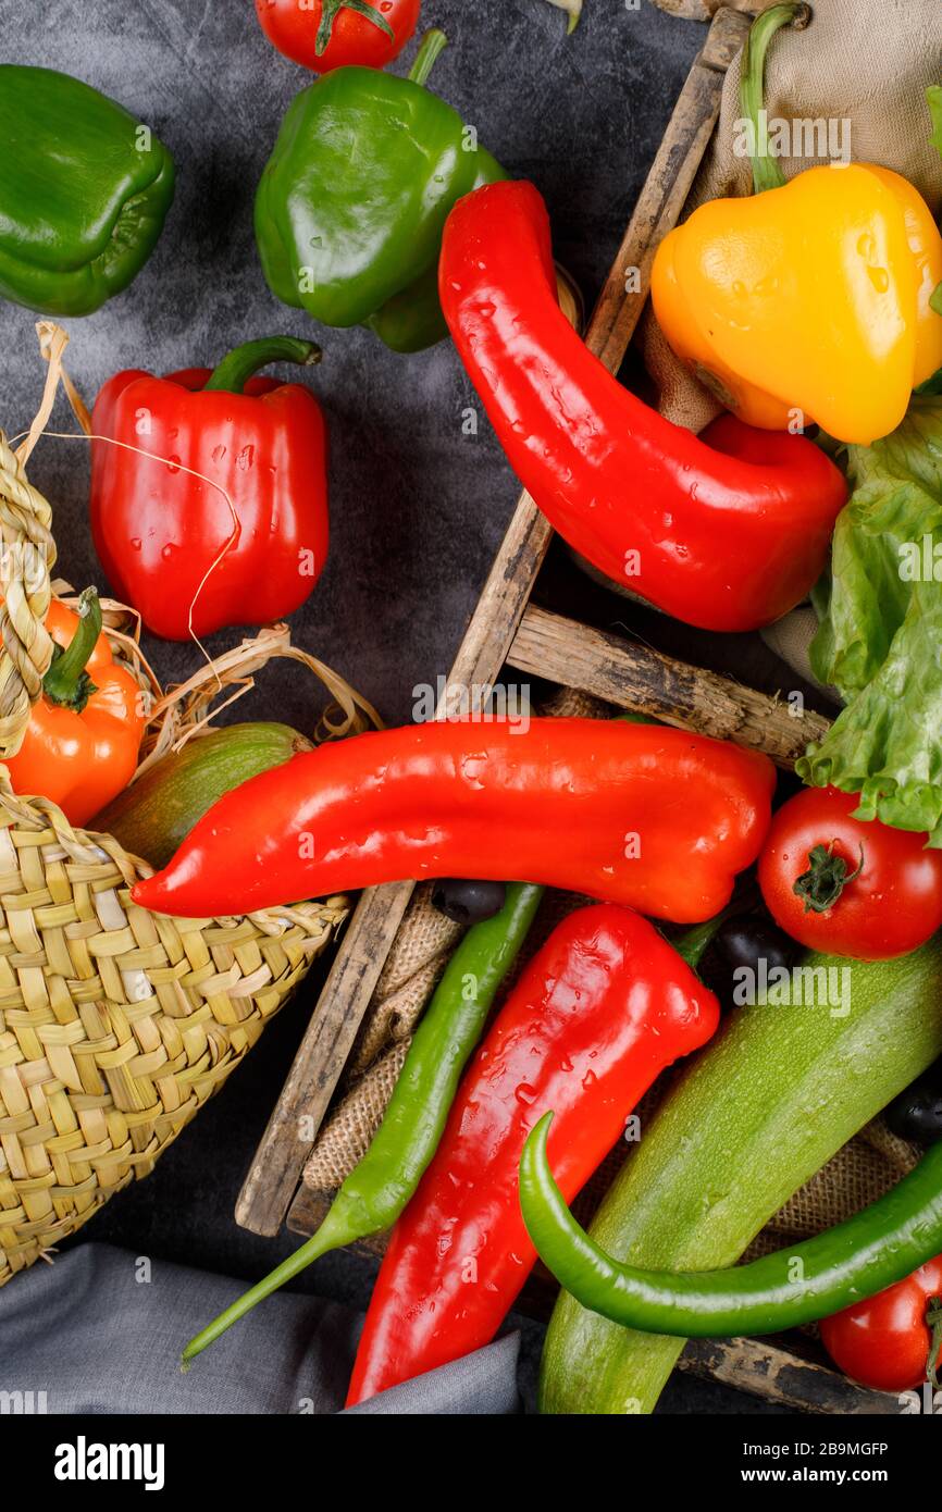
[[[419,8],[420,0],[256,0],[269,42],[316,74],[348,64],[386,68],[413,36]]]

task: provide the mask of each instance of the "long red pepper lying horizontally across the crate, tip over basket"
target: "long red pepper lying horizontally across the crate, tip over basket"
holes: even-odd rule
[[[133,897],[209,918],[407,877],[513,874],[697,922],[756,859],[774,785],[767,756],[662,726],[413,724],[253,777]]]

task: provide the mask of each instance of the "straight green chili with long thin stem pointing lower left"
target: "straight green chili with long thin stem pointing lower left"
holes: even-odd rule
[[[360,1164],[349,1173],[324,1223],[213,1318],[183,1350],[189,1364],[257,1302],[331,1249],[392,1228],[438,1148],[461,1072],[534,921],[543,888],[510,883],[499,913],[473,924],[452,954],[425,1010],[393,1089],[386,1117]]]

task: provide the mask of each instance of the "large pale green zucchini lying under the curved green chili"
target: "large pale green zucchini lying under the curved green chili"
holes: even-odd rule
[[[615,1178],[591,1235],[665,1270],[732,1266],[788,1198],[942,1052],[942,942],[850,972],[850,1012],[747,1007],[680,1074]],[[809,980],[809,978],[806,978]],[[587,1312],[567,1293],[543,1353],[540,1411],[653,1411],[683,1340]]]

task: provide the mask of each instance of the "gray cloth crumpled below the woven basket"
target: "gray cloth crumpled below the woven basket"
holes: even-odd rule
[[[0,1290],[5,1411],[32,1393],[33,1411],[68,1415],[340,1412],[361,1318],[336,1302],[278,1291],[180,1370],[186,1341],[243,1290],[109,1244],[33,1266]],[[517,1412],[517,1353],[508,1334],[349,1415]]]

